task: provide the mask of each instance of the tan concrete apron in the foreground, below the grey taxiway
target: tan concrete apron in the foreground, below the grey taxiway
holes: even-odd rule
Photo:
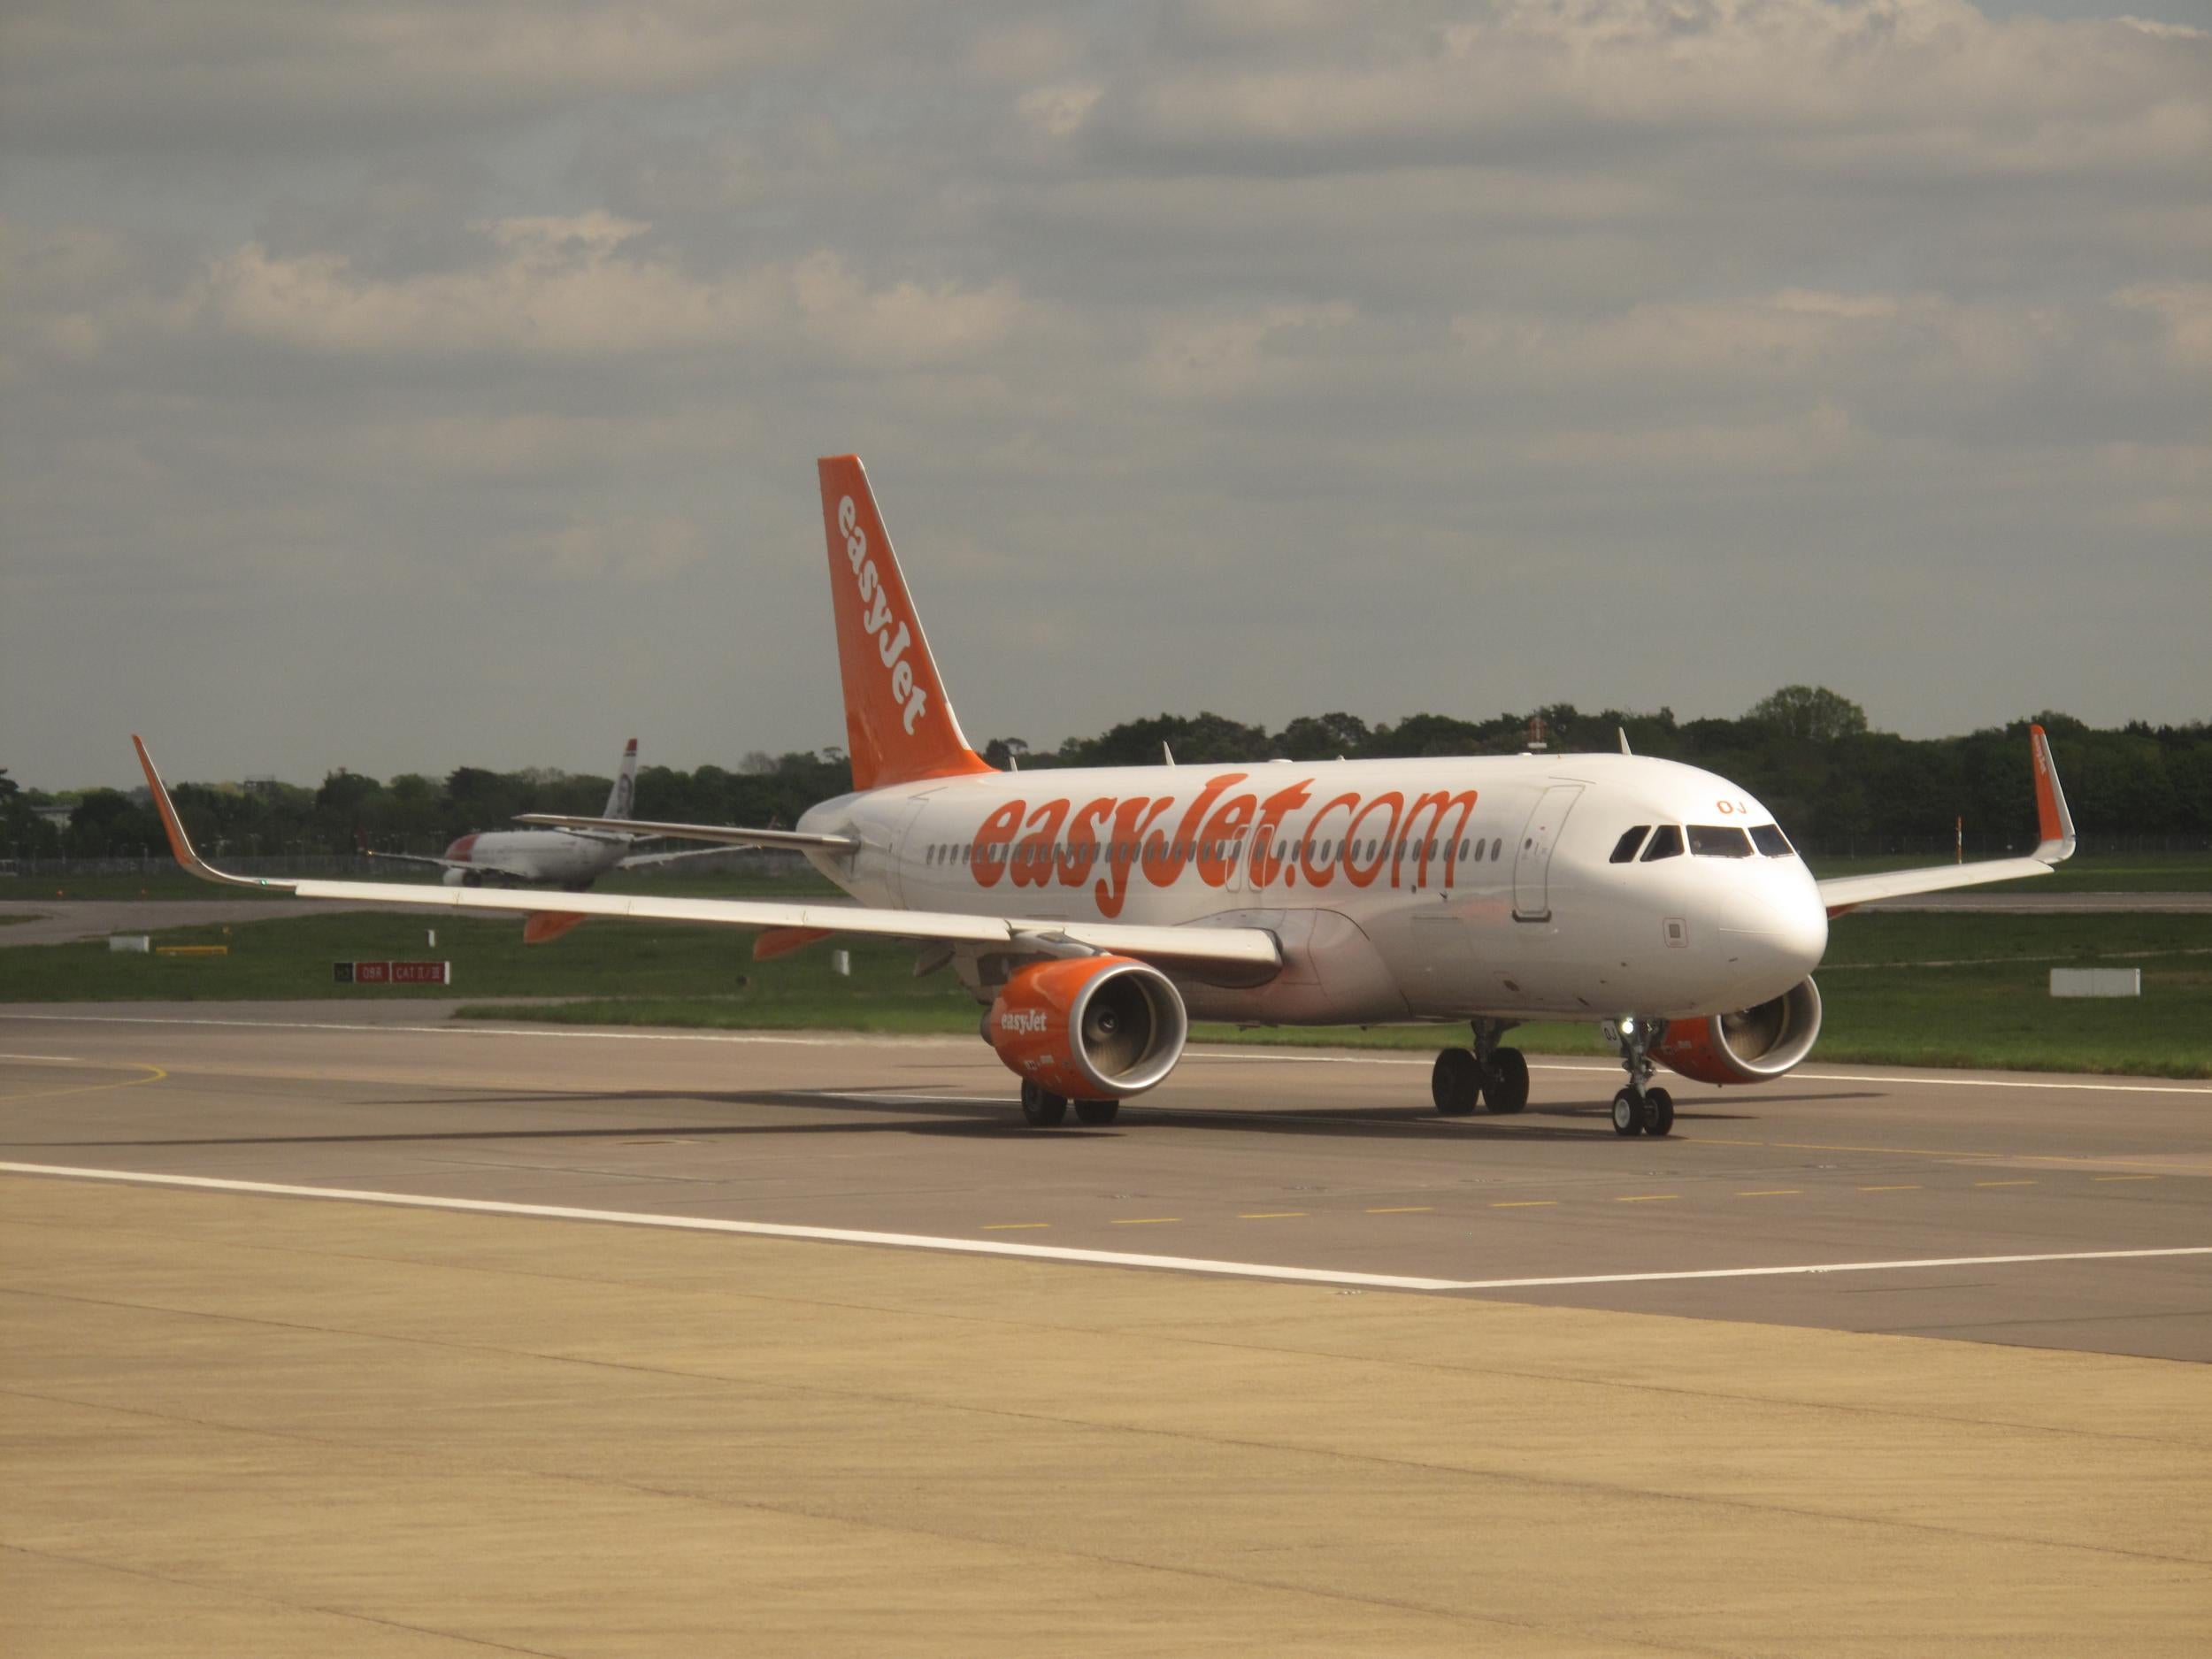
[[[2199,1367],[0,1179],[15,1655],[2194,1655]]]

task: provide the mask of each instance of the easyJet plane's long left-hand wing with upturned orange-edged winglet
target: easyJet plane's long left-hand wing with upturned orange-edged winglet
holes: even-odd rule
[[[288,891],[296,898],[338,898],[369,905],[420,905],[442,911],[518,911],[557,909],[564,916],[608,916],[637,922],[706,922],[719,927],[803,927],[825,933],[874,933],[883,938],[929,938],[956,945],[1088,945],[1161,962],[1210,962],[1223,967],[1281,967],[1283,949],[1263,927],[1137,927],[1121,922],[1057,922],[1022,916],[960,916],[951,911],[874,909],[867,905],[787,905],[752,898],[659,898],[644,894],[560,894],[557,905],[546,894],[504,891],[498,887],[416,887],[380,880],[272,880],[230,876],[192,852],[177,805],[168,799],[161,774],[155,772],[146,743],[131,739],[146,785],[153,790],[168,849],[177,863],[201,880],[259,891]],[[761,832],[754,832],[761,834]]]

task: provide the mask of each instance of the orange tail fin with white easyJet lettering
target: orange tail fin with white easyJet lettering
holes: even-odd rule
[[[852,787],[991,772],[953,717],[860,458],[823,456],[821,480]]]

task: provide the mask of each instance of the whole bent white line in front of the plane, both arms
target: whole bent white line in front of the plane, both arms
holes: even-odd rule
[[[2148,1261],[2157,1256],[2212,1256],[2212,1245],[2172,1250],[2059,1250],[2028,1256],[1913,1256],[1902,1261],[1823,1261],[1792,1267],[1697,1267],[1688,1272],[1566,1274],[1553,1279],[1420,1279],[1411,1274],[1356,1274],[1329,1267],[1276,1267],[1256,1261],[1208,1261],[1203,1256],[1150,1256],[1126,1250],[1073,1250],[1066,1245],[1004,1243],[995,1239],[945,1239],[925,1232],[865,1232],[858,1228],[801,1228],[779,1221],[721,1221],[714,1217],[650,1214],[637,1210],[580,1210],[564,1203],[504,1203],[498,1199],[438,1199],[422,1192],[363,1192],[332,1186],[283,1186],[276,1181],[230,1181],[212,1175],[148,1175],[144,1170],[86,1170],[66,1164],[0,1164],[0,1175],[49,1175],[71,1181],[119,1181],[124,1186],[197,1188],[206,1192],[252,1192],[281,1199],[341,1199],[385,1203],[400,1210],[458,1210],[465,1214],[520,1214],[540,1221],[608,1221],[626,1228],[672,1232],[737,1232],[757,1239],[814,1239],[821,1243],[867,1243],[894,1250],[949,1250],[969,1256],[1024,1256],[1031,1261],[1082,1261],[1099,1267],[1168,1267],[1172,1272],[1221,1274],[1228,1279],[1274,1279],[1303,1285],[1360,1285],[1367,1290],[1546,1290],[1568,1285],[1650,1285],[1677,1279],[1790,1279],[1807,1274],[1909,1272],[1916,1267],[2004,1267],[2042,1261]]]

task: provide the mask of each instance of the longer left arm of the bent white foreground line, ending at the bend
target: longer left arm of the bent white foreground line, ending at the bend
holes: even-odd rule
[[[122,1181],[128,1186],[181,1186],[210,1192],[257,1192],[283,1199],[345,1199],[389,1203],[403,1210],[462,1210],[473,1214],[520,1214],[542,1221],[615,1221],[628,1228],[672,1228],[677,1232],[741,1232],[759,1239],[818,1239],[825,1243],[872,1243],[898,1250],[951,1250],[971,1256],[1026,1256],[1031,1261],[1086,1261],[1104,1267],[1172,1267],[1232,1279],[1287,1279],[1307,1285],[1360,1285],[1367,1290],[1460,1290],[1451,1279],[1400,1274],[1352,1274],[1327,1267],[1270,1267],[1250,1261],[1203,1261],[1197,1256],[1146,1256],[1124,1250],[1066,1250],[1060,1245],[1002,1243],[998,1239],[938,1239],[920,1232],[863,1232],[856,1228],[794,1228],[774,1221],[719,1221],[714,1217],[639,1214],[630,1210],[575,1210],[560,1203],[498,1203],[493,1199],[434,1199],[418,1192],[356,1192],[327,1186],[279,1186],[274,1181],[223,1181],[210,1175],[144,1175],[139,1170],[80,1170],[60,1164],[0,1164],[0,1175],[60,1175],[73,1181]]]

